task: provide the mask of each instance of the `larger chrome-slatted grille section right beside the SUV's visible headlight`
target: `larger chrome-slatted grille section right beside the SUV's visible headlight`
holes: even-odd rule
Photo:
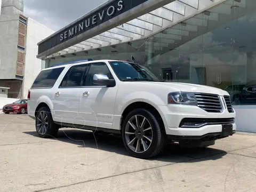
[[[219,95],[195,93],[198,107],[207,111],[208,113],[221,113],[222,105]]]

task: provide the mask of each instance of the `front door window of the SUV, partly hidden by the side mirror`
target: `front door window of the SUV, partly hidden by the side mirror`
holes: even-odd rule
[[[93,84],[93,76],[95,74],[107,75],[109,79],[114,79],[106,63],[91,63],[89,72],[83,81],[83,86],[99,86]]]

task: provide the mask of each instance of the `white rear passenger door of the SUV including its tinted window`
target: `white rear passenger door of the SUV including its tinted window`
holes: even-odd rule
[[[86,64],[70,67],[54,94],[54,118],[61,123],[77,124],[81,80]]]

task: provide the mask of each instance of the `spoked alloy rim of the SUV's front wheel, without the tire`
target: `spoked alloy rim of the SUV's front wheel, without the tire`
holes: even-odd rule
[[[143,153],[153,140],[153,129],[148,119],[142,115],[131,117],[125,127],[127,146],[135,153]]]

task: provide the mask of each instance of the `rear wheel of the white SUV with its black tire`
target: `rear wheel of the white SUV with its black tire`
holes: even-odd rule
[[[36,132],[41,138],[55,138],[59,128],[52,119],[51,111],[48,107],[42,107],[36,115]]]

